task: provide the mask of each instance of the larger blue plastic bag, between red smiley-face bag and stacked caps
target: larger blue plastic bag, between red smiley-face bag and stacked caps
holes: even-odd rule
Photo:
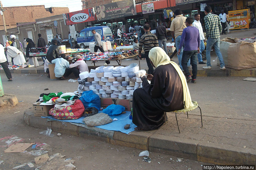
[[[95,107],[96,109],[100,110],[100,97],[93,93],[92,90],[84,91],[79,100],[82,101],[85,109]]]

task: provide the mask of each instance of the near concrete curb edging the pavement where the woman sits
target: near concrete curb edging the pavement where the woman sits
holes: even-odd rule
[[[177,157],[193,159],[213,164],[254,165],[256,151],[248,151],[246,148],[236,148],[230,145],[218,145],[197,140],[168,137],[157,134],[157,130],[147,132],[132,132],[130,135],[114,131],[113,138],[90,131],[86,128],[62,123],[59,121],[47,121],[45,118],[35,117],[32,110],[24,112],[24,121],[29,126],[46,129],[51,127],[53,131],[74,135],[82,138],[102,140],[111,144],[138,148],[170,154]]]

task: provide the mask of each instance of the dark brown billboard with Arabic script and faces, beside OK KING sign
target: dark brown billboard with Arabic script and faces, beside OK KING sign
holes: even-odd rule
[[[137,15],[135,0],[117,1],[95,7],[97,21]]]

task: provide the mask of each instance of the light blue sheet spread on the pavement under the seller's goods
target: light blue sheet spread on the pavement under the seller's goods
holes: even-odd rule
[[[100,111],[99,113],[102,113],[102,111]],[[131,112],[126,112],[125,114],[121,114],[121,115],[117,115],[117,116],[110,116],[112,119],[117,118],[118,120],[117,121],[112,121],[111,123],[108,123],[106,125],[100,125],[100,126],[95,126],[95,127],[110,130],[110,131],[120,131],[120,132],[129,134],[132,131],[134,131],[135,127],[137,127],[135,124],[133,124],[132,120],[129,119],[130,114],[131,114]],[[43,117],[43,118],[50,118],[50,119],[53,119],[53,120],[56,120],[56,121],[64,121],[64,122],[84,124],[84,122],[82,121],[84,119],[84,116],[80,117],[79,119],[71,119],[71,120],[58,120],[58,119],[53,118],[52,116],[47,116],[47,117]],[[130,124],[129,129],[124,129],[124,126],[126,124]]]

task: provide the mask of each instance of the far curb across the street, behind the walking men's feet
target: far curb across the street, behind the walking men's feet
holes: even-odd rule
[[[95,68],[98,66],[94,66]],[[92,67],[92,69],[94,68]],[[44,70],[10,70],[12,74],[46,74]],[[147,71],[147,69],[146,69]],[[192,74],[192,70],[189,72]],[[4,70],[0,70],[0,73],[4,73]],[[198,69],[197,76],[199,77],[256,77],[256,69],[244,69],[244,70],[204,70]]]

